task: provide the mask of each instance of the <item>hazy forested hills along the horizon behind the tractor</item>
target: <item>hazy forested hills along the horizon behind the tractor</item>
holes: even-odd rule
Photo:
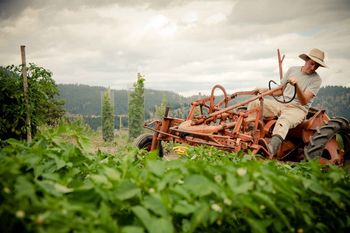
[[[65,101],[65,110],[74,115],[82,115],[93,128],[100,125],[101,95],[105,87],[58,84],[60,90],[59,99]],[[128,91],[112,90],[116,115],[128,113]],[[192,101],[199,98],[198,95],[183,97],[170,91],[145,90],[145,119],[152,117],[155,106],[159,106],[162,98],[166,97],[168,106],[173,114],[185,117]],[[218,97],[220,98],[220,97]],[[341,86],[322,87],[313,103],[313,107],[325,109],[329,116],[343,116],[350,119],[350,88]],[[123,125],[126,125],[124,119]],[[117,127],[119,122],[116,119]]]

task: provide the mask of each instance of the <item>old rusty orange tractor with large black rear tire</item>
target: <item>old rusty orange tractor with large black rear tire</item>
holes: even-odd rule
[[[281,67],[280,59],[279,62]],[[322,164],[340,166],[349,162],[349,121],[342,117],[330,118],[325,110],[310,108],[305,121],[289,130],[277,155],[272,156],[260,143],[261,139],[266,142],[271,140],[276,123],[276,118],[262,116],[264,99],[272,98],[270,96],[272,93],[283,88],[271,80],[269,90],[264,93],[242,91],[227,95],[223,86],[215,85],[209,97],[191,103],[186,119],[168,116],[167,109],[162,120],[145,123],[144,127],[152,130],[153,134],[140,135],[135,144],[149,151],[160,149],[162,142],[174,142],[209,145],[231,152],[250,151],[267,159],[281,161],[299,162],[305,159],[317,159]],[[223,93],[223,96],[220,95],[222,96],[220,100],[215,96],[217,90]],[[291,99],[284,96],[273,96],[273,98],[288,104],[295,98],[295,94]],[[237,99],[240,101],[235,101]],[[247,105],[255,100],[260,101],[260,106],[248,110]],[[251,113],[256,113],[256,117],[253,121],[247,121]]]

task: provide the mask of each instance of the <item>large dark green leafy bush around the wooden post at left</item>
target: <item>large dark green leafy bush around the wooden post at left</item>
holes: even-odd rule
[[[0,140],[26,137],[21,67],[0,67]],[[31,128],[34,135],[38,126],[58,122],[64,113],[63,102],[55,99],[58,89],[50,71],[35,64],[30,64],[27,70]]]

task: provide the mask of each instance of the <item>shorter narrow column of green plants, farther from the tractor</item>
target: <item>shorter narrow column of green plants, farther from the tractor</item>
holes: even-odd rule
[[[103,93],[102,137],[106,142],[111,142],[114,139],[114,111],[111,103],[110,89]]]

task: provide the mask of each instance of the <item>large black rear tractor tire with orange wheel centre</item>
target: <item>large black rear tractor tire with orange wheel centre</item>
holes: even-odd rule
[[[322,164],[343,166],[350,162],[350,124],[345,118],[336,117],[316,130],[305,146],[307,160],[319,159]]]

